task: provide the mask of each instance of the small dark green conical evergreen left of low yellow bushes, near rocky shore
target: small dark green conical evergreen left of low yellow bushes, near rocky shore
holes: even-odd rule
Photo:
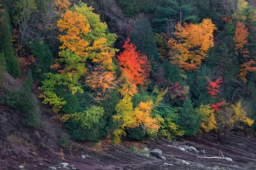
[[[177,123],[180,125],[181,130],[186,131],[188,136],[195,135],[198,132],[201,125],[201,115],[195,112],[189,97],[183,103]]]

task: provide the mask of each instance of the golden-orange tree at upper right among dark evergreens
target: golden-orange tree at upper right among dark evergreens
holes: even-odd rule
[[[199,24],[177,24],[176,39],[169,40],[172,63],[187,71],[201,65],[210,47],[213,47],[213,31],[217,29],[210,19]]]

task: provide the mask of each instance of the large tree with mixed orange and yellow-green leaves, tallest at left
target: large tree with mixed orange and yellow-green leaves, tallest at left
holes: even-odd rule
[[[95,76],[88,72],[87,61],[101,65],[100,71],[113,69],[112,57],[116,50],[111,48],[111,45],[115,42],[116,35],[106,32],[108,28],[106,23],[100,22],[99,15],[92,10],[92,7],[81,3],[67,10],[58,21],[59,31],[63,33],[59,36],[62,42],[60,59],[56,59],[55,64],[51,66],[57,73],[46,74],[47,79],[43,81],[44,85],[41,87],[44,91],[44,94],[41,94],[44,104],[53,105],[54,111],[58,111],[66,103],[56,94],[55,86],[67,86],[72,94],[83,93],[79,79],[89,74],[89,84],[94,87],[93,84],[95,85],[96,82],[92,83],[91,80],[97,81],[97,79],[90,77]],[[94,66],[90,65],[90,67]],[[106,76],[105,79],[109,78],[109,74]]]

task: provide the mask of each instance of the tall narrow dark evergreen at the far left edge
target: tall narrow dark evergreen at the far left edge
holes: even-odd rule
[[[6,11],[1,13],[0,24],[0,50],[6,58],[6,70],[12,75],[13,78],[20,77],[20,64],[15,57],[12,44],[12,34],[9,14]]]

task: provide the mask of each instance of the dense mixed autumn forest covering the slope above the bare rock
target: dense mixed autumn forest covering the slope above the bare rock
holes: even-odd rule
[[[85,1],[0,0],[0,104],[37,128],[39,100],[73,141],[255,132],[253,2],[117,1],[149,16],[125,39]]]

